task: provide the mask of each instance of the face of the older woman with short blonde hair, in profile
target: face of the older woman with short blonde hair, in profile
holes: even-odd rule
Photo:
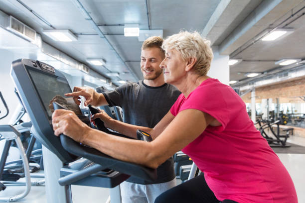
[[[186,62],[177,50],[167,50],[165,53],[165,59],[160,63],[160,68],[164,70],[165,83],[174,84],[181,80],[181,78],[186,74],[185,66]]]

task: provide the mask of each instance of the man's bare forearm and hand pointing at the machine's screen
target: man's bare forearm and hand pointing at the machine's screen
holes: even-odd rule
[[[80,105],[81,103],[79,96],[83,96],[86,99],[86,102],[84,103],[85,106],[88,104],[94,106],[109,105],[102,93],[99,94],[93,89],[87,87],[74,87],[73,93],[67,93],[65,96],[73,97],[73,100],[77,105]]]

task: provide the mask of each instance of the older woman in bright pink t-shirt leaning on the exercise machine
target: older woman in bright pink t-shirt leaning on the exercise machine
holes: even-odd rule
[[[232,88],[206,75],[213,58],[209,41],[182,31],[165,39],[162,48],[165,82],[182,94],[153,129],[120,123],[104,112],[93,116],[131,137],[137,129],[149,132],[152,142],[91,129],[66,110],[53,113],[55,135],[64,133],[114,158],[151,168],[182,150],[204,177],[168,190],[156,203],[297,203],[291,177],[254,127],[245,103]]]

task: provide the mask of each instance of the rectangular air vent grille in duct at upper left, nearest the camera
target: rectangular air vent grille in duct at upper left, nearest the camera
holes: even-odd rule
[[[29,39],[30,41],[36,40],[36,31],[32,28],[29,28],[13,16],[9,16],[9,25],[7,29]]]

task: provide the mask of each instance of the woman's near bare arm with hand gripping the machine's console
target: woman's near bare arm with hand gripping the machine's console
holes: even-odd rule
[[[63,133],[116,159],[151,168],[157,168],[175,152],[192,142],[209,123],[215,120],[200,110],[186,109],[179,112],[156,139],[152,142],[143,142],[113,136],[81,125],[79,123],[81,121],[71,111],[56,110],[52,118],[55,135]],[[166,123],[165,121],[162,122]],[[56,125],[57,122],[58,125]],[[162,126],[164,125],[161,123],[160,129]]]

